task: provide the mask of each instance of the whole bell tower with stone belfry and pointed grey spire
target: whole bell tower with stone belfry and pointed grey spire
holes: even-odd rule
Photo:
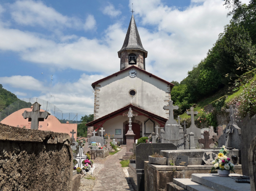
[[[147,58],[148,52],[142,46],[133,15],[130,20],[123,46],[117,53],[120,58],[120,70],[132,65],[145,70],[145,58]]]

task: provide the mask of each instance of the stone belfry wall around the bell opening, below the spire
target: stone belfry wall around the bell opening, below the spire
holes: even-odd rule
[[[136,54],[136,65],[138,68],[144,69],[144,57],[143,57],[143,52],[141,51],[134,51],[134,50],[126,50],[121,53],[121,63],[120,63],[120,70],[128,68],[132,65],[129,65],[129,54]]]

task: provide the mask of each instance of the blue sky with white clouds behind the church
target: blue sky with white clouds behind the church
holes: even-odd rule
[[[222,0],[1,0],[0,83],[19,98],[93,113],[90,84],[119,71],[132,3],[146,70],[167,81],[186,78],[230,20]]]

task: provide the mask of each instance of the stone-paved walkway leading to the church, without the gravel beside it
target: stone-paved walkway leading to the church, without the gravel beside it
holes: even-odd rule
[[[113,190],[113,191],[133,191],[132,185],[128,178],[125,177],[120,161],[125,155],[126,147],[114,155],[110,155],[105,161],[105,168],[103,168],[97,177],[96,184],[93,191],[96,190]]]

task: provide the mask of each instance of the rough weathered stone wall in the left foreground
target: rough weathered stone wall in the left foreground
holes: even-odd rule
[[[70,142],[66,133],[0,123],[0,190],[72,190]]]

